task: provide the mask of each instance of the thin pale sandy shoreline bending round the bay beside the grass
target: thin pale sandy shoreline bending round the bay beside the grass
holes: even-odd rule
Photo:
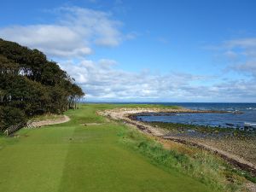
[[[187,108],[115,108],[115,109],[108,109],[105,111],[97,112],[103,116],[106,116],[110,119],[114,120],[121,120],[127,125],[131,125],[136,127],[139,131],[143,133],[149,134],[153,137],[157,137],[163,141],[172,141],[175,143],[182,143],[185,145],[194,146],[197,148],[203,148],[207,151],[212,151],[215,154],[218,154],[224,160],[227,160],[234,166],[238,166],[241,170],[245,170],[247,172],[251,172],[253,177],[256,176],[256,165],[249,160],[246,160],[239,154],[231,153],[230,151],[222,148],[220,146],[215,146],[212,143],[204,143],[200,140],[191,139],[189,137],[179,137],[179,136],[166,136],[166,134],[170,131],[166,131],[160,127],[155,127],[152,125],[148,125],[141,121],[137,121],[134,116],[137,113],[218,113],[218,111],[198,111],[198,110],[191,110]],[[222,112],[228,113],[228,112]]]

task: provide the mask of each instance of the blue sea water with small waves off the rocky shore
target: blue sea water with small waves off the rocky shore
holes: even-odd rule
[[[159,113],[137,116],[142,121],[159,121],[189,125],[207,125],[212,127],[244,129],[256,127],[256,103],[202,103],[202,102],[166,102],[155,103],[166,106],[181,106],[195,110],[227,111],[229,113]]]

